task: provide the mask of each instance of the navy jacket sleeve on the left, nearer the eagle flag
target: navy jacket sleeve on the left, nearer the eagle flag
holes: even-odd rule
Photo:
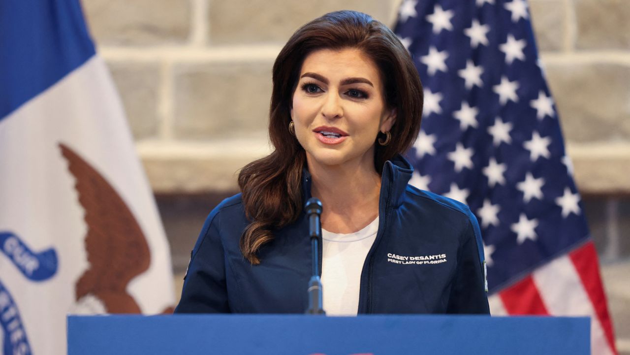
[[[175,313],[229,313],[218,209],[210,212],[191,253]]]

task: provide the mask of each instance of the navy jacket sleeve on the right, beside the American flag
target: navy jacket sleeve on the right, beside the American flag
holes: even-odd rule
[[[447,313],[490,314],[484,276],[481,231],[474,214],[468,212],[468,223],[457,252],[457,270],[450,291]]]

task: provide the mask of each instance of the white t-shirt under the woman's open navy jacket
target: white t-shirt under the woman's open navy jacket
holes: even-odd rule
[[[361,271],[378,229],[377,217],[355,233],[321,231],[321,284],[326,315],[357,315]]]

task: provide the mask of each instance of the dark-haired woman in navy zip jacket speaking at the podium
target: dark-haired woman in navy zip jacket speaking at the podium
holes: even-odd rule
[[[303,313],[313,196],[329,315],[489,313],[473,214],[407,184],[400,154],[422,102],[410,55],[370,16],[338,11],[297,30],[273,65],[275,151],[210,213],[176,312]]]

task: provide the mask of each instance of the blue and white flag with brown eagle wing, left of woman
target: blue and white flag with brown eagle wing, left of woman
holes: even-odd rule
[[[162,313],[163,227],[78,0],[0,2],[2,355],[66,354],[68,313]]]

